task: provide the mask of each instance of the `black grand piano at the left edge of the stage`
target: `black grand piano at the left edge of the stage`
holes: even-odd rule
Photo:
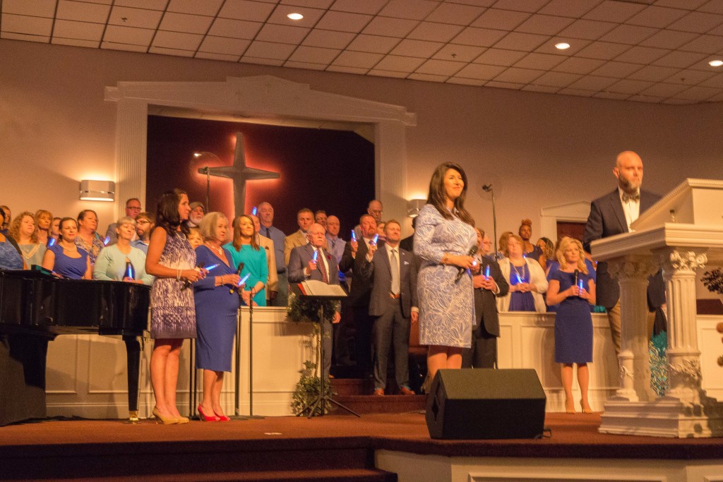
[[[123,338],[129,420],[137,421],[140,337],[149,304],[146,285],[0,270],[0,426],[46,417],[48,342],[90,333]]]

